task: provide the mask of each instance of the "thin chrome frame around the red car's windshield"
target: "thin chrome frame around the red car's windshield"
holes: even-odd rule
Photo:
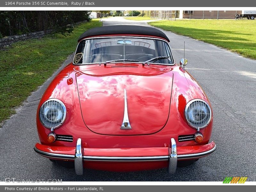
[[[83,41],[83,40],[88,40],[88,39],[103,39],[103,38],[137,38],[137,39],[155,39],[155,40],[160,40],[160,41],[164,41],[165,43],[168,44],[168,47],[170,49],[170,53],[171,53],[171,59],[173,61],[173,63],[153,63],[153,62],[150,62],[150,63],[147,63],[147,64],[153,64],[153,65],[167,65],[167,66],[173,66],[175,65],[175,60],[174,60],[174,57],[173,57],[173,54],[172,54],[172,48],[169,44],[168,41],[166,41],[165,39],[162,39],[162,38],[157,38],[157,37],[144,37],[144,36],[100,36],[100,37],[90,37],[90,38],[84,38],[82,39],[76,46],[76,51],[77,51],[77,48],[78,48],[78,45]],[[76,53],[76,52],[75,52]],[[93,65],[93,64],[104,64],[104,62],[96,62],[96,63],[80,63],[80,64],[76,64],[74,63],[74,59],[75,59],[75,56],[76,54],[74,54],[74,57],[73,57],[73,60],[72,60],[72,64],[73,65],[78,65],[78,66],[85,66],[85,65]],[[111,63],[120,63],[120,62],[111,62]],[[144,62],[122,62],[122,63],[140,63],[140,64],[143,64]]]

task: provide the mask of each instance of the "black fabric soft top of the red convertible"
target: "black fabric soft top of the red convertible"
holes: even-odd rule
[[[152,27],[144,27],[137,25],[112,25],[112,26],[104,26],[92,28],[85,31],[79,38],[78,42],[90,36],[98,36],[98,35],[149,35],[149,36],[158,36],[166,39],[168,42],[170,40],[168,37],[160,30]]]

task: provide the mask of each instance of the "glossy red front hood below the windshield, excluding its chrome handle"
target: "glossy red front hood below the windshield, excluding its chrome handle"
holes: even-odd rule
[[[172,93],[173,74],[169,70],[165,72],[166,67],[144,68],[141,65],[127,70],[101,66],[77,72],[84,123],[92,132],[107,135],[160,131],[169,116]],[[124,118],[124,89],[127,92],[130,130],[120,129]]]

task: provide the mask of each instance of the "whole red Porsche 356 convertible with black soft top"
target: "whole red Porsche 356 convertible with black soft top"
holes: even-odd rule
[[[82,34],[73,62],[39,103],[35,151],[78,175],[83,168],[174,173],[211,154],[210,102],[168,42],[141,26]]]

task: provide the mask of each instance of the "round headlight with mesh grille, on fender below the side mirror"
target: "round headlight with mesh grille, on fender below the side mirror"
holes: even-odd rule
[[[193,128],[201,129],[206,127],[209,124],[211,117],[211,108],[204,100],[191,100],[185,107],[185,119]]]

